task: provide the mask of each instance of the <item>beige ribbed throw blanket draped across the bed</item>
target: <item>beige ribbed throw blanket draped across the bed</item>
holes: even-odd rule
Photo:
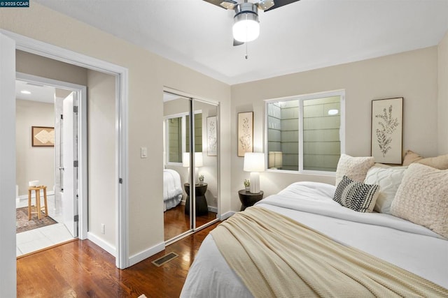
[[[448,297],[448,290],[261,207],[211,232],[255,297]]]

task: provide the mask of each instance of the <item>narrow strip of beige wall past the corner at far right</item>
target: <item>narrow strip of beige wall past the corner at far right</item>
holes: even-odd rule
[[[438,154],[448,154],[448,31],[438,46]]]

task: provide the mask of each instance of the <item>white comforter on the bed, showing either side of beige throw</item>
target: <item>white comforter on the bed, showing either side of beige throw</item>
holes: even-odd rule
[[[258,206],[300,221],[335,241],[448,288],[448,240],[388,214],[361,214],[332,200],[335,186],[291,184]],[[181,297],[252,297],[208,235],[188,271]]]

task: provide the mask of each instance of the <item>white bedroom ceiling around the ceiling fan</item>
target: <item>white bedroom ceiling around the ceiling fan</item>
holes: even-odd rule
[[[228,84],[429,47],[448,30],[448,0],[301,0],[260,12],[246,60],[234,13],[202,0],[35,1]]]

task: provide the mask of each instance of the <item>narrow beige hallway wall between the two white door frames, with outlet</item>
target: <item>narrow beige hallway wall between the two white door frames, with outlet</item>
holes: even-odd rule
[[[115,76],[87,70],[87,86],[88,230],[115,247]]]

